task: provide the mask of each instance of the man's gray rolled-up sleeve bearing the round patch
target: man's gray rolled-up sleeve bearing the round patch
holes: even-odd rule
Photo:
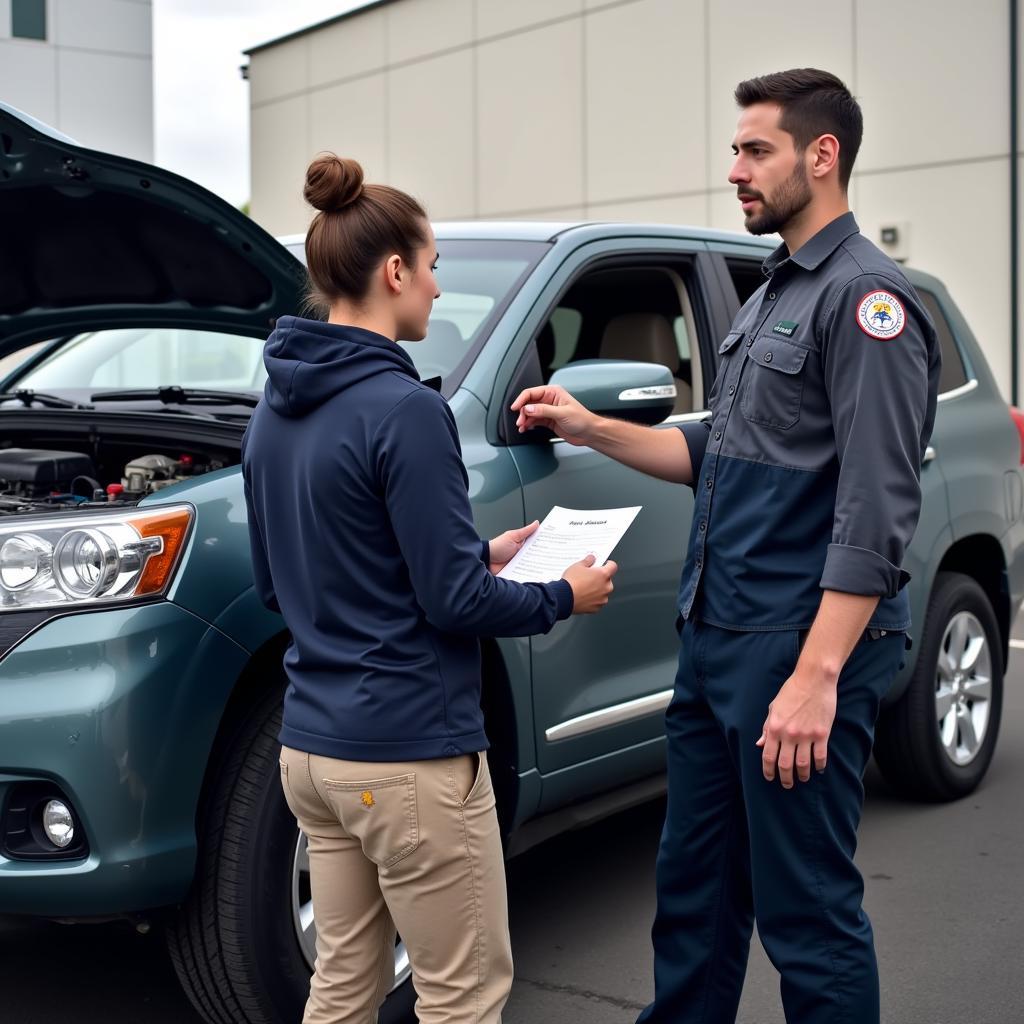
[[[894,297],[899,308],[891,313],[902,315],[902,329],[887,338],[876,337],[870,322],[862,326],[874,292]],[[825,312],[822,360],[839,481],[823,590],[894,597],[910,579],[902,563],[921,511],[934,351],[934,330],[919,310],[905,286],[867,274]]]

